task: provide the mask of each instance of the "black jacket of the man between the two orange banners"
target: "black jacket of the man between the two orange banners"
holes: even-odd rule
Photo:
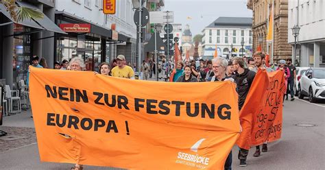
[[[249,69],[245,69],[245,71],[242,74],[236,73],[234,75],[234,82],[237,84],[237,93],[239,96],[238,99],[238,106],[239,110],[243,107],[243,104],[245,103],[245,99],[247,97],[248,91],[250,90],[250,86],[252,86],[255,72],[250,71]]]

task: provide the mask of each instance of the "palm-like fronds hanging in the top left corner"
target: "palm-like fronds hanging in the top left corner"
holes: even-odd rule
[[[25,19],[43,19],[43,13],[23,6],[17,6],[16,0],[0,0],[8,10],[14,22],[23,21]]]

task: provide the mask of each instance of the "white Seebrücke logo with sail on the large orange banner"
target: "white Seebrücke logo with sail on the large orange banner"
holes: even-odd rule
[[[197,152],[204,140],[206,140],[206,138],[201,138],[199,141],[194,143],[194,145],[191,147],[191,151]],[[187,165],[190,167],[197,167],[198,169],[206,169],[206,165],[208,165],[209,160],[210,158],[200,156],[199,154],[189,154],[179,151],[176,163]]]

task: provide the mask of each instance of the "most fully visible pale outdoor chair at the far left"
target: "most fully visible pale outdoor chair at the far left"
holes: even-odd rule
[[[5,99],[8,99],[10,113],[21,112],[21,97],[19,97],[19,90],[10,90],[10,86],[5,85]],[[15,103],[17,104],[17,110],[13,112]]]

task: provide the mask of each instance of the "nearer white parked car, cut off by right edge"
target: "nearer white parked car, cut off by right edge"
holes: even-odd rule
[[[298,84],[298,97],[309,97],[311,103],[325,99],[325,68],[310,68],[302,74]]]

